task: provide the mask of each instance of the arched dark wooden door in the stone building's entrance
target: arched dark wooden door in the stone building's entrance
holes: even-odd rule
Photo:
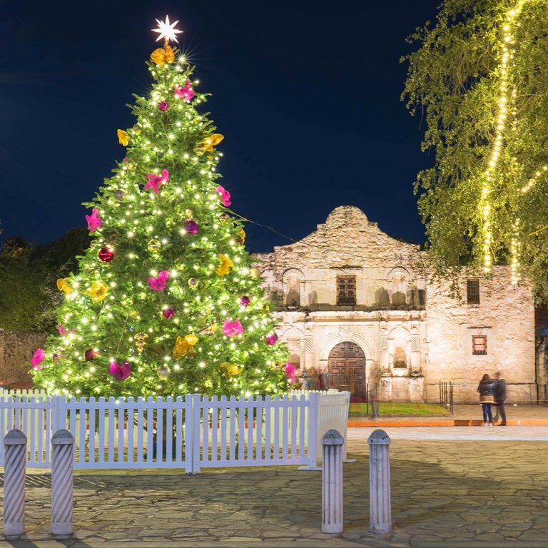
[[[350,395],[365,395],[365,354],[360,345],[345,341],[335,345],[329,352],[331,387],[348,390]]]

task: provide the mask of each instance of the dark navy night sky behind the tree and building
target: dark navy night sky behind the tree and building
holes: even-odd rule
[[[169,14],[201,91],[213,93],[220,183],[235,211],[298,239],[336,206],[357,205],[422,243],[412,183],[432,158],[400,101],[399,58],[437,4],[0,0],[0,238],[46,243],[85,224],[81,202],[124,155],[126,103],[151,86],[150,29]],[[247,230],[252,251],[289,243]]]

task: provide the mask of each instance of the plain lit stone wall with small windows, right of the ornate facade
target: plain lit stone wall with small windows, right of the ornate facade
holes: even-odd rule
[[[534,303],[527,283],[510,284],[509,268],[498,266],[492,278],[480,278],[480,304],[462,303],[447,288],[430,286],[427,302],[427,380],[451,380],[460,400],[477,401],[475,388],[484,373],[500,371],[509,383],[509,399],[536,399]],[[472,353],[472,336],[487,335],[487,355]],[[475,386],[476,385],[476,386]],[[465,392],[468,392],[467,395]]]

